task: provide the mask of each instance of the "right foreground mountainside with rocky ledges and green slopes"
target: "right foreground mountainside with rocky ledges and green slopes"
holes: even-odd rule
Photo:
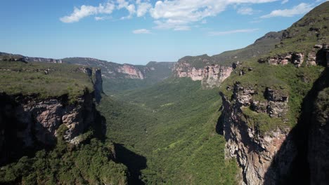
[[[328,9],[329,2],[314,8],[283,32],[269,54],[238,65],[222,84],[226,156],[237,158],[243,184],[309,184],[308,163],[311,169],[321,166],[307,160],[308,130],[314,123],[307,121],[307,109],[314,100],[309,96],[316,97],[314,83],[328,71]],[[323,129],[314,127],[313,134]],[[319,146],[314,139],[311,144],[314,150]],[[323,181],[321,174],[328,170],[322,170],[316,176]],[[311,184],[317,184],[321,180],[314,181],[312,173]]]

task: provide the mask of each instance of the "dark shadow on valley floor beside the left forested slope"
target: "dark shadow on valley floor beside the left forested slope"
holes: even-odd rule
[[[129,177],[128,184],[144,184],[140,179],[141,170],[146,169],[146,158],[140,156],[133,151],[125,148],[123,144],[115,143],[115,160],[119,163],[123,163],[128,167]]]

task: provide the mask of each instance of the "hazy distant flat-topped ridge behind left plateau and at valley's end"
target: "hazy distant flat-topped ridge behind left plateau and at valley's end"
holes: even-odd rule
[[[11,53],[0,53],[0,61],[64,63],[100,68],[105,92],[140,88],[162,81],[172,75],[172,67],[175,63],[152,61],[146,65],[133,65],[117,64],[90,57],[67,57],[57,60],[42,57],[26,57]]]

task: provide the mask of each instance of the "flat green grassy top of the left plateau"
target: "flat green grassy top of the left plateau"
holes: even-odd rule
[[[45,70],[49,69],[49,74]],[[0,93],[8,95],[39,94],[40,97],[56,97],[68,94],[73,99],[93,90],[87,74],[69,64],[39,62],[0,62]]]

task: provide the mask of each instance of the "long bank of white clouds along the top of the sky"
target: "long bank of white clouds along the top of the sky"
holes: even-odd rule
[[[105,1],[105,0],[104,0]],[[82,18],[95,16],[95,20],[103,20],[113,11],[125,9],[129,14],[121,19],[143,17],[149,13],[155,23],[155,29],[189,30],[193,24],[202,24],[209,17],[217,16],[228,6],[241,6],[237,10],[242,15],[254,13],[252,4],[264,4],[283,0],[160,0],[152,3],[150,0],[107,0],[99,6],[82,5],[63,18],[62,22],[78,22]]]

